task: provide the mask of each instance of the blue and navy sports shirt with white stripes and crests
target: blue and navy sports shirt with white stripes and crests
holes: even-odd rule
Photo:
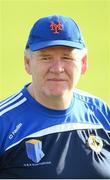
[[[75,89],[69,108],[38,103],[25,86],[0,102],[0,178],[110,178],[110,109]]]

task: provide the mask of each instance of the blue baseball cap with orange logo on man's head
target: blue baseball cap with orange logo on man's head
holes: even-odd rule
[[[51,46],[85,48],[80,28],[73,19],[52,15],[35,22],[30,31],[26,49],[37,51]]]

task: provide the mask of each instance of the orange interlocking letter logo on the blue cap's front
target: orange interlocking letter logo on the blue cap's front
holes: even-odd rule
[[[55,24],[53,21],[51,21],[50,28],[54,34],[59,34],[59,31],[62,30],[62,24],[60,21],[57,24]]]

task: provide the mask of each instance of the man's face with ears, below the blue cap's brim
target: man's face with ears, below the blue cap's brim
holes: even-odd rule
[[[63,97],[72,92],[85,72],[86,58],[81,50],[54,46],[33,52],[25,59],[25,67],[38,96]]]

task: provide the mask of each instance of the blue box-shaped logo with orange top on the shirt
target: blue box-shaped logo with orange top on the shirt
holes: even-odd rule
[[[42,151],[42,142],[36,139],[30,139],[25,144],[28,158],[38,163],[45,155]]]

